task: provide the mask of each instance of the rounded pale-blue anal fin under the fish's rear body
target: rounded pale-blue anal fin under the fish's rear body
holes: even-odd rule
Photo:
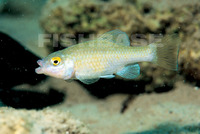
[[[129,65],[116,74],[125,79],[135,79],[140,75],[140,66],[139,64]]]

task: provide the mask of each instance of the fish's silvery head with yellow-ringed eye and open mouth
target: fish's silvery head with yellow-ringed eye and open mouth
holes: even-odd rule
[[[60,52],[54,52],[44,59],[37,61],[37,74],[45,74],[61,79],[70,79],[74,74],[74,62]]]

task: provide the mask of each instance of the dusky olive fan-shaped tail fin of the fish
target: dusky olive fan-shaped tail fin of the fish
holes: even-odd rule
[[[180,39],[177,34],[165,36],[161,42],[151,44],[156,49],[153,62],[170,70],[178,70]]]

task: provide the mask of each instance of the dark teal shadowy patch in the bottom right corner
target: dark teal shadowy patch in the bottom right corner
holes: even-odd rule
[[[142,132],[128,132],[124,134],[188,134],[188,133],[200,133],[200,124],[179,126],[173,123],[160,124],[154,129],[146,130]]]

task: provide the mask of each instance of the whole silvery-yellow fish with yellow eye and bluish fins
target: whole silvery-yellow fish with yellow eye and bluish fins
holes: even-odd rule
[[[131,80],[140,75],[139,62],[152,62],[177,71],[179,47],[177,34],[166,35],[160,42],[149,45],[130,46],[128,35],[117,29],[49,54],[37,61],[39,67],[35,72],[64,80],[80,80],[84,84],[116,76]]]

